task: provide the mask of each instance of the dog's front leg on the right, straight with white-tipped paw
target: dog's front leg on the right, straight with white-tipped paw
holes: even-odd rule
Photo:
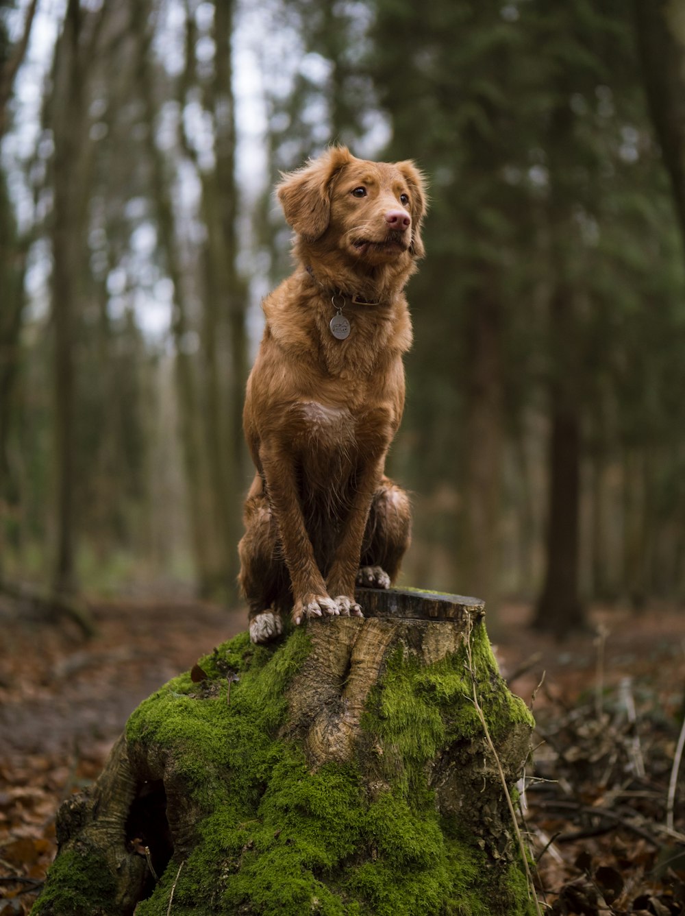
[[[328,593],[333,595],[340,614],[363,616],[355,601],[361,542],[364,539],[371,500],[382,474],[382,459],[369,460],[358,468],[355,494],[327,577]]]

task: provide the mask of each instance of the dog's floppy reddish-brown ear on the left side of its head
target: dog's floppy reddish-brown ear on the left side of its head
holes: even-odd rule
[[[331,186],[337,173],[354,157],[347,147],[330,147],[303,169],[283,175],[276,188],[285,219],[308,242],[326,232],[330,220]]]

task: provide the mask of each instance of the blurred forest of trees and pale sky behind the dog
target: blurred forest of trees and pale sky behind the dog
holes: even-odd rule
[[[685,5],[0,2],[0,587],[235,605],[282,170],[431,187],[403,581],[685,598]]]

